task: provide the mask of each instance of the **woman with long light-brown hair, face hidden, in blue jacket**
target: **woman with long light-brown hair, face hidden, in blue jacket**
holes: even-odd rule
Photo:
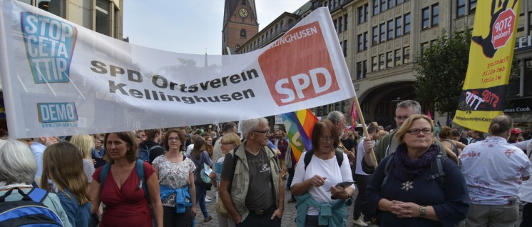
[[[51,179],[61,206],[72,226],[88,226],[91,220],[91,197],[83,174],[81,151],[72,143],[54,143],[44,150],[41,186]]]

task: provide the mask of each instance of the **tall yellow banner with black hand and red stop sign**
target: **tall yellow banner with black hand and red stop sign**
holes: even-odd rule
[[[469,66],[454,123],[487,132],[491,119],[503,114],[519,6],[519,0],[478,2]]]

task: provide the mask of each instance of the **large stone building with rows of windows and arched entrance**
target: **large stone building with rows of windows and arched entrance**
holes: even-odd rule
[[[317,7],[327,7],[337,30],[354,89],[366,122],[395,126],[395,106],[401,100],[416,99],[414,92],[415,56],[424,46],[444,34],[473,28],[476,0],[311,0],[294,14],[282,14],[257,36],[237,50],[245,53],[275,39],[271,33],[287,16],[297,21]],[[511,94],[505,113],[516,119],[516,126],[530,128],[532,122],[532,2],[521,1],[515,60],[519,76],[511,78]],[[286,23],[286,22],[285,22]],[[286,27],[285,31],[290,29]],[[275,29],[273,31],[276,31]],[[280,32],[284,32],[282,29]],[[276,33],[277,34],[277,33]],[[265,38],[262,37],[265,35]],[[282,34],[280,34],[282,35]],[[275,37],[272,37],[275,38]],[[464,72],[465,74],[466,72]],[[459,94],[457,94],[458,96]],[[429,104],[422,104],[426,113]],[[351,101],[341,101],[314,109],[317,116],[330,111],[349,113]],[[448,122],[447,114],[431,114]]]

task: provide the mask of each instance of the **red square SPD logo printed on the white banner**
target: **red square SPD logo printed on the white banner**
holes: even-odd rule
[[[259,64],[279,106],[339,90],[318,22],[292,29],[277,39],[259,56]]]

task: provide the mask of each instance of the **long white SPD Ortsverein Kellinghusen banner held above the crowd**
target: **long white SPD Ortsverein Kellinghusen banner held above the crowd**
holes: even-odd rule
[[[262,49],[207,56],[128,44],[0,2],[0,74],[14,138],[239,121],[356,95],[327,8]]]

